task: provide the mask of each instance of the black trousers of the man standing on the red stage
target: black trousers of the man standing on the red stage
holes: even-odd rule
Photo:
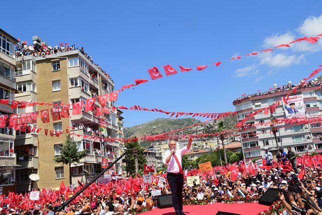
[[[177,215],[183,214],[182,207],[182,189],[183,189],[183,174],[167,174],[168,183],[172,193],[172,202]]]

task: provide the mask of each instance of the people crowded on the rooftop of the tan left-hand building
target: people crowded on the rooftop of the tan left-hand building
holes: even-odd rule
[[[113,82],[111,77],[101,68],[99,64],[94,63],[93,58],[84,51],[84,47],[75,48],[75,45],[69,46],[68,43],[60,43],[55,47],[47,46],[46,44],[39,44],[37,41],[33,42],[33,45],[28,45],[27,41],[17,43],[17,49],[15,55],[17,58],[24,60],[24,56],[33,55],[35,57],[45,57],[50,54],[58,54],[66,51],[79,50],[88,60],[90,60],[95,67],[97,67],[105,76]],[[95,77],[93,77],[94,79]],[[114,82],[113,82],[114,83]]]

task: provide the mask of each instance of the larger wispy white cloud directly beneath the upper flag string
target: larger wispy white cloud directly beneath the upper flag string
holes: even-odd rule
[[[304,60],[304,54],[299,56],[287,55],[284,53],[273,54],[271,52],[263,53],[261,56],[261,64],[265,64],[269,67],[286,67],[291,64],[298,64]]]

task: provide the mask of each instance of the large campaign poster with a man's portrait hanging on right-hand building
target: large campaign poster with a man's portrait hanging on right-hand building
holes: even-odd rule
[[[286,118],[305,117],[303,95],[290,96],[287,101],[282,98]]]

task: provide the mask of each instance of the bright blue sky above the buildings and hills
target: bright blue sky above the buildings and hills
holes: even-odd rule
[[[115,88],[148,79],[147,69],[195,67],[322,34],[320,1],[16,1],[1,28],[31,43],[83,46],[107,70]],[[318,32],[318,33],[317,33]],[[322,39],[191,71],[121,92],[117,105],[166,111],[225,112],[241,94],[266,91],[310,74]],[[130,127],[166,115],[124,110]]]

